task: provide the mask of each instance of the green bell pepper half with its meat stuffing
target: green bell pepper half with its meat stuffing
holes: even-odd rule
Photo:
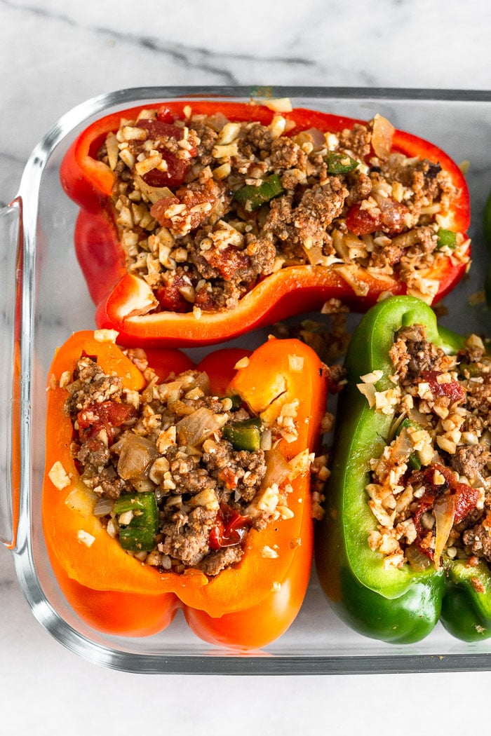
[[[325,515],[322,587],[353,629],[393,643],[439,619],[491,635],[491,353],[414,297],[361,320],[347,352]]]

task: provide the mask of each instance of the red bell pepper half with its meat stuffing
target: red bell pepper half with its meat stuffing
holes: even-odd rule
[[[379,115],[135,107],[82,132],[61,181],[96,323],[133,347],[220,342],[333,299],[437,302],[470,262],[459,167]]]

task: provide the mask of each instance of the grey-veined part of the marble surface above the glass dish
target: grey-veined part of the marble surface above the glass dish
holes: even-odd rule
[[[490,6],[473,0],[24,3],[0,0],[0,201],[70,107],[138,85],[489,88]],[[20,52],[20,53],[19,53]],[[442,80],[444,80],[442,82]],[[33,114],[34,113],[34,114]],[[15,162],[15,163],[13,163]]]

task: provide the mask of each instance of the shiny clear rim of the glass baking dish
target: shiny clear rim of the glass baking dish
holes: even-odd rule
[[[300,87],[284,85],[257,86],[158,86],[126,88],[87,99],[63,115],[40,139],[24,167],[18,194],[13,200],[21,202],[23,230],[23,278],[21,285],[21,377],[28,377],[32,364],[32,330],[34,324],[33,279],[38,217],[38,192],[41,177],[52,152],[60,141],[88,118],[103,113],[107,108],[124,106],[137,101],[172,99],[175,97],[232,97],[242,99],[275,99],[308,97],[312,101],[326,97],[334,99],[381,99],[428,102],[491,102],[491,91],[436,90],[417,88],[340,88]],[[29,416],[31,386],[21,381],[21,417]],[[69,650],[85,659],[116,670],[134,673],[166,674],[230,674],[230,675],[303,675],[303,674],[359,674],[359,673],[415,673],[450,671],[485,671],[491,669],[491,654],[377,654],[308,656],[274,654],[272,657],[255,654],[136,654],[100,645],[73,629],[54,611],[46,598],[32,556],[30,540],[30,484],[29,457],[31,435],[28,421],[21,422],[21,499],[17,541],[13,548],[15,570],[25,598],[35,618],[52,636]]]

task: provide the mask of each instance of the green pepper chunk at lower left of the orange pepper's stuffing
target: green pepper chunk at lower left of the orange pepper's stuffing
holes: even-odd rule
[[[113,510],[118,517],[119,543],[124,550],[149,552],[155,547],[158,508],[154,492],[121,493]],[[133,517],[129,523],[121,523],[121,514],[128,512],[133,512]]]

